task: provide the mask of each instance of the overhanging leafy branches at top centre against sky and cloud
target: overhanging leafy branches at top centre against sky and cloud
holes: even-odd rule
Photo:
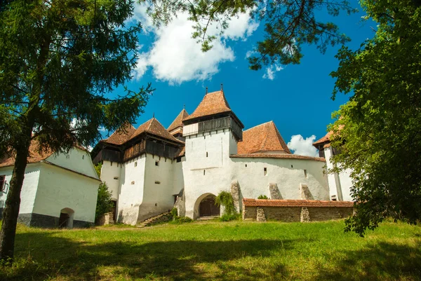
[[[141,1],[142,2],[142,1]],[[149,13],[156,25],[166,25],[177,13],[189,13],[194,22],[193,38],[202,42],[202,50],[212,48],[215,36],[208,33],[210,25],[217,25],[221,33],[229,19],[249,13],[265,24],[265,39],[258,42],[258,55],[249,57],[250,68],[265,64],[298,64],[302,44],[314,44],[325,52],[327,46],[349,41],[333,22],[321,22],[316,13],[339,15],[340,11],[354,13],[356,9],[342,0],[152,0]]]

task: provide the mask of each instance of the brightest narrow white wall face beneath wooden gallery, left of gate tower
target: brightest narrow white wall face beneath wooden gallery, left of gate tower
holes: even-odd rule
[[[121,167],[117,221],[123,224],[135,225],[138,221],[139,206],[142,204],[145,184],[145,163],[146,156],[144,154],[129,160]]]

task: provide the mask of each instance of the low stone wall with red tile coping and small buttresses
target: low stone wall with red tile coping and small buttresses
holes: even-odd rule
[[[253,201],[252,201],[253,200]],[[354,203],[317,200],[243,200],[243,219],[256,221],[328,221],[349,217]]]

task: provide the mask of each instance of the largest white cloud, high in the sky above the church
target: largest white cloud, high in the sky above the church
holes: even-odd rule
[[[151,69],[155,78],[171,84],[206,80],[218,73],[220,63],[235,60],[234,50],[227,46],[227,40],[246,40],[258,28],[258,23],[248,14],[232,18],[225,33],[212,42],[213,48],[203,53],[201,44],[192,39],[194,23],[187,20],[187,13],[179,14],[167,26],[156,29],[146,10],[145,4],[137,4],[132,20],[140,20],[147,32],[154,32],[156,40],[149,50],[139,54],[133,74],[135,79]],[[208,28],[209,35],[219,32],[215,25]]]

